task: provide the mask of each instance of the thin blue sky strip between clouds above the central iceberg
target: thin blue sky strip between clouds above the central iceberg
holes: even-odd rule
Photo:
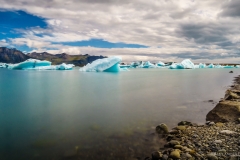
[[[96,47],[96,48],[148,48],[148,46],[139,45],[139,44],[126,44],[126,43],[112,43],[102,39],[90,39],[87,41],[76,41],[76,42],[62,42],[55,43],[69,46],[78,46],[78,47]]]

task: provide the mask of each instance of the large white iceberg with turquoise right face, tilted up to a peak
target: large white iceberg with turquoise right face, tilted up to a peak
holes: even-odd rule
[[[93,61],[91,64],[79,69],[83,72],[119,72],[119,62],[122,61],[121,57],[103,58]]]

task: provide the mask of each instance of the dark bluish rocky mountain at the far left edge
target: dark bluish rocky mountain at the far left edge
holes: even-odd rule
[[[0,47],[0,62],[20,63],[26,61],[29,57],[15,48]]]

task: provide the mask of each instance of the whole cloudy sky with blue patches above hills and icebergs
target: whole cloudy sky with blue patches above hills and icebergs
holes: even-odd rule
[[[0,0],[0,47],[240,63],[239,0]]]

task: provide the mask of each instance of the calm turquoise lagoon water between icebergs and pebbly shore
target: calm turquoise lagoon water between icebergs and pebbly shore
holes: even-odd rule
[[[204,123],[215,106],[207,101],[218,102],[239,74],[239,69],[1,69],[0,159],[64,159],[76,146],[76,159],[145,156],[149,145],[157,146],[147,137],[157,124]]]

